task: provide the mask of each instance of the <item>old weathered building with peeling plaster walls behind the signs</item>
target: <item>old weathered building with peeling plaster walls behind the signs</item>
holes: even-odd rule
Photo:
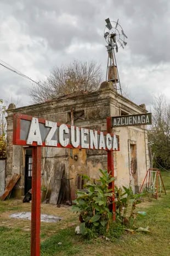
[[[106,130],[106,117],[146,113],[144,105],[117,94],[112,84],[104,82],[98,91],[79,92],[65,95],[49,102],[15,108],[8,108],[7,166],[6,182],[13,173],[21,178],[15,186],[15,194],[24,195],[31,186],[31,149],[13,145],[13,114],[22,113],[33,117],[43,117],[49,121]],[[148,136],[145,126],[115,128],[120,138],[120,151],[114,152],[116,183],[119,186],[132,185],[138,192],[146,170],[150,167]],[[99,168],[107,168],[107,154],[104,150],[42,148],[42,185],[52,186],[58,166],[64,163],[65,177],[70,179],[72,198],[77,188],[82,188],[81,173],[96,179]]]

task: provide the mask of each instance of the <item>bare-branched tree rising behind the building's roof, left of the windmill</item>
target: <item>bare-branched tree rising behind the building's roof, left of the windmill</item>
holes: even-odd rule
[[[71,92],[97,90],[100,82],[100,66],[93,61],[74,61],[56,67],[46,81],[31,88],[30,95],[33,102],[40,103]]]

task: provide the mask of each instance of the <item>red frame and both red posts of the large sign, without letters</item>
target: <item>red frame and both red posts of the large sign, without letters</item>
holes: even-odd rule
[[[32,116],[23,115],[20,113],[15,113],[13,118],[13,144],[14,145],[22,145],[26,146],[26,140],[20,139],[20,129],[21,129],[21,119],[31,121]],[[46,119],[38,118],[39,123],[45,123]],[[111,126],[111,117],[107,117],[107,132],[103,134],[110,133],[112,134],[112,126]],[[58,126],[61,124],[58,123]],[[71,127],[69,124],[66,124],[67,127]],[[81,127],[80,127],[81,129]],[[100,131],[97,131],[100,134]],[[118,136],[116,135],[118,138]],[[40,224],[41,224],[41,147],[47,146],[43,142],[42,145],[37,145],[37,142],[33,141],[31,145],[32,148],[32,202],[31,202],[31,256],[39,256],[40,255]],[[57,144],[57,148],[74,148],[71,144],[67,146],[61,146],[59,143]],[[81,148],[78,146],[77,148]],[[92,149],[93,150],[93,149]],[[111,173],[111,176],[114,177],[114,156],[112,152],[113,149],[103,149],[107,151],[107,171]],[[118,141],[118,149],[120,150],[119,141]],[[114,181],[110,184],[110,188],[112,188],[113,197],[112,197],[112,212],[113,219],[116,220],[116,204],[115,204],[115,184]]]

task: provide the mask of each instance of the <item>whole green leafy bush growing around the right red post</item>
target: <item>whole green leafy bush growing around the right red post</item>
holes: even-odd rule
[[[78,190],[75,205],[72,210],[80,213],[80,233],[83,236],[117,237],[124,227],[132,227],[136,219],[135,208],[140,203],[141,194],[134,194],[131,187],[118,188],[115,186],[116,221],[113,221],[112,188],[110,183],[114,178],[107,170],[99,170],[100,178],[90,181],[88,176],[84,190]]]

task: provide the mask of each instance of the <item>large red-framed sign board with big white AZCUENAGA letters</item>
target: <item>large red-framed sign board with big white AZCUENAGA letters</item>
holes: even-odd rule
[[[118,136],[22,114],[14,114],[13,144],[119,150]]]

